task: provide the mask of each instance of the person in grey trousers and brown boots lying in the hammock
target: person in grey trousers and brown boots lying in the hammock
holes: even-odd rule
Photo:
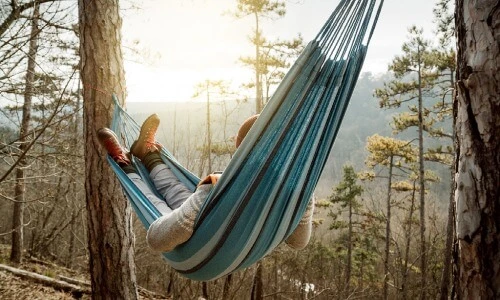
[[[258,115],[254,115],[241,125],[236,137],[236,147],[241,144],[257,117]],[[155,188],[163,198],[156,196],[149,185],[141,179],[130,161],[130,153],[120,145],[111,129],[101,128],[97,131],[97,136],[108,154],[162,214],[149,227],[147,243],[155,251],[168,252],[191,237],[196,216],[220,174],[207,176],[198,184],[194,193],[186,188],[160,157],[161,145],[155,139],[159,124],[158,115],[153,114],[148,117],[141,126],[139,137],[132,144],[130,153],[144,164]],[[286,240],[286,244],[290,247],[302,249],[308,244],[311,237],[313,209],[314,200],[311,199],[299,225]]]

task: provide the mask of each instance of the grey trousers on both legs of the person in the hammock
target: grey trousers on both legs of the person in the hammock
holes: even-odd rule
[[[179,208],[193,194],[165,164],[157,165],[149,174],[156,190],[163,196],[163,199],[156,196],[139,174],[128,173],[127,175],[162,215],[169,214],[172,210]]]

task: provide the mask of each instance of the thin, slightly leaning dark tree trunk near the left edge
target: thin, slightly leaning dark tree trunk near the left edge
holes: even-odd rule
[[[31,20],[31,34],[28,50],[28,66],[26,70],[26,82],[24,90],[23,117],[21,128],[19,130],[19,152],[27,151],[28,131],[31,121],[31,99],[33,97],[33,83],[35,81],[36,53],[38,49],[38,17],[39,5],[35,4],[33,9],[33,19]],[[25,173],[26,156],[20,158],[16,170],[16,183],[14,188],[14,211],[12,214],[12,247],[10,260],[14,264],[22,261],[23,243],[24,243],[24,202],[26,195]]]

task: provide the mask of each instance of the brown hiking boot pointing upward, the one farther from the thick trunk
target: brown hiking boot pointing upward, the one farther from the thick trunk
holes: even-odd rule
[[[150,152],[160,151],[160,144],[155,140],[156,130],[160,125],[160,118],[157,114],[149,116],[142,124],[141,133],[137,140],[132,144],[130,152],[144,160],[144,157]]]

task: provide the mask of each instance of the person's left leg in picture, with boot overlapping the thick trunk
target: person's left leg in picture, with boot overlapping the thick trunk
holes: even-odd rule
[[[153,203],[162,215],[169,214],[172,209],[167,203],[156,196],[149,186],[137,174],[135,167],[128,158],[127,151],[118,142],[118,138],[113,131],[108,128],[101,128],[97,131],[97,137],[101,145],[106,149],[113,160],[127,173],[127,176],[139,188],[139,190]]]

